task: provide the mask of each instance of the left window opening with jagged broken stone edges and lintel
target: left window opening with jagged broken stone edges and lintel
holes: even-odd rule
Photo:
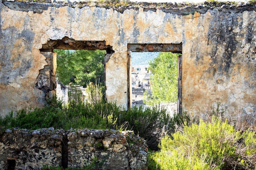
[[[64,37],[61,40],[48,40],[46,44],[42,45],[40,53],[46,57],[47,65],[39,71],[36,87],[45,93],[45,99],[56,94],[59,99],[67,103],[68,89],[60,82],[56,82],[56,69],[58,70],[58,79],[62,80],[65,85],[78,86],[79,84],[80,87],[84,88],[88,84],[93,86],[101,84],[104,89],[105,64],[115,51],[112,50],[112,46],[106,45],[105,41],[77,41]],[[66,60],[70,56],[72,56],[72,60]],[[67,68],[62,67],[61,70],[61,67],[57,66],[57,57],[58,66],[60,64],[72,65],[68,65]],[[103,61],[104,58],[105,61]],[[74,70],[70,71],[68,68],[74,68]]]

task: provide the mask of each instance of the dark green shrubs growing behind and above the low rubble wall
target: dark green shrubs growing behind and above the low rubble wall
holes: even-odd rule
[[[97,90],[97,86],[88,86],[88,88],[89,91]],[[73,97],[78,96],[81,95]],[[152,137],[150,134],[155,132],[153,134],[155,142],[151,141],[151,146],[155,149],[157,149],[157,138],[161,132],[159,130],[168,132],[167,129],[174,129],[173,118],[166,115],[165,110],[158,106],[120,110],[124,109],[106,102],[102,97],[99,100],[92,97],[87,103],[83,103],[81,99],[72,98],[67,105],[63,105],[54,97],[44,108],[36,108],[28,113],[25,110],[19,110],[16,117],[10,113],[5,118],[0,118],[0,126],[31,130],[49,127],[65,130],[70,128],[134,130],[135,134],[145,139]]]

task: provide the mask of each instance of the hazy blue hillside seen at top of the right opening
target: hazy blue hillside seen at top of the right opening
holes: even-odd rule
[[[132,66],[148,65],[148,62],[158,57],[159,52],[131,52]]]

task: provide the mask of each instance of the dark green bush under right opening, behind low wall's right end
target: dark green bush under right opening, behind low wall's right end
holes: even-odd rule
[[[164,134],[171,134],[175,125],[180,124],[177,122],[181,119],[177,117],[177,115],[170,117],[160,106],[150,108],[135,106],[118,116],[117,121],[121,127],[123,127],[122,122],[125,122],[126,129],[134,130],[140,137],[147,140],[149,148],[158,150],[159,139]]]

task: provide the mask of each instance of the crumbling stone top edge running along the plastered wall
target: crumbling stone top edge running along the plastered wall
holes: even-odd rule
[[[160,9],[161,11],[164,11],[165,13],[171,13],[174,15],[189,15],[194,14],[195,12],[199,13],[206,13],[208,10],[212,9],[218,9],[219,11],[225,12],[225,13],[240,13],[242,11],[255,11],[255,3],[252,1],[253,4],[249,2],[239,2],[238,4],[234,4],[234,2],[204,2],[203,4],[193,4],[193,3],[154,3],[154,2],[129,2],[127,3],[121,3],[119,5],[116,5],[116,3],[111,2],[111,0],[106,0],[105,2],[97,1],[90,2],[90,1],[78,1],[78,2],[69,2],[62,0],[57,0],[52,3],[52,0],[36,0],[32,1],[30,0],[29,4],[26,4],[26,7],[24,7],[25,2],[10,2],[10,0],[3,0],[2,1],[4,5],[9,7],[13,10],[18,11],[33,11],[34,13],[43,13],[43,10],[47,10],[49,7],[72,7],[72,8],[84,8],[84,7],[100,7],[100,8],[106,8],[106,9],[114,9],[120,13],[124,13],[126,9],[133,9],[133,10],[139,10],[140,7],[143,7],[144,11],[153,11],[156,12],[157,9]],[[42,3],[44,2],[44,3]]]

